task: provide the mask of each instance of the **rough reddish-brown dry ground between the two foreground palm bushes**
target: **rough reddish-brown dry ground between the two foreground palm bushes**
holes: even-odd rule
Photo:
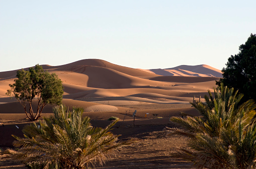
[[[95,121],[92,120],[92,123],[94,124]],[[115,134],[122,134],[120,139],[137,137],[140,140],[122,147],[113,159],[96,168],[193,168],[190,162],[170,157],[177,147],[186,147],[187,142],[185,137],[167,136],[165,126],[173,127],[174,124],[138,124],[135,126],[127,125],[127,123],[120,124],[112,130]],[[4,148],[6,147],[2,147]],[[27,167],[19,162],[1,159],[0,168]]]

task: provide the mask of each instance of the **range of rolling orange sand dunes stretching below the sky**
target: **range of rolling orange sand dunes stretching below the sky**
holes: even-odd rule
[[[169,117],[172,112],[177,112],[178,107],[174,110],[174,105],[186,105],[184,111],[190,112],[193,108],[189,102],[194,96],[197,100],[202,97],[203,101],[207,90],[212,91],[221,73],[204,64],[143,70],[100,59],[84,59],[59,66],[43,65],[43,68],[56,73],[62,80],[63,103],[67,106],[83,107],[85,112],[91,113],[102,111],[105,115],[118,112],[121,116],[128,110],[137,109],[141,118],[145,110],[152,113],[159,110],[161,116]],[[0,120],[7,114],[24,111],[15,98],[6,95],[16,71],[0,72]],[[47,105],[43,112],[52,112],[52,107]]]

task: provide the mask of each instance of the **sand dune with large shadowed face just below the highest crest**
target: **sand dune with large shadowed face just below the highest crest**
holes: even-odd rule
[[[49,72],[55,72],[59,78],[70,84],[96,87],[96,88],[130,88],[135,86],[148,85],[171,85],[166,82],[152,81],[123,72],[99,66],[79,66],[71,72],[67,68],[51,69]],[[65,72],[65,73],[64,73]]]

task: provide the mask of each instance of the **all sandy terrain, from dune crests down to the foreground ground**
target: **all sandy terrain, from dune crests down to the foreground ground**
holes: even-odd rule
[[[84,108],[94,126],[106,126],[111,116],[120,118],[113,128],[120,139],[138,137],[140,141],[124,147],[104,166],[98,168],[192,168],[192,164],[169,155],[180,146],[186,147],[186,138],[168,137],[165,126],[173,127],[171,116],[181,112],[198,115],[190,102],[204,101],[207,90],[213,91],[221,71],[208,65],[181,65],[167,69],[135,69],[100,59],[84,59],[65,65],[42,65],[62,80],[62,103],[68,107]],[[27,68],[25,68],[27,69]],[[6,95],[14,82],[16,71],[0,72],[0,146],[11,146],[11,134],[22,136],[22,127],[29,123],[23,107]],[[217,77],[216,77],[217,76]],[[35,106],[36,102],[33,102]],[[47,105],[42,116],[52,113]],[[133,123],[133,112],[137,110]],[[18,128],[18,127],[19,128]],[[2,166],[1,166],[2,165]],[[25,167],[8,160],[0,168]]]

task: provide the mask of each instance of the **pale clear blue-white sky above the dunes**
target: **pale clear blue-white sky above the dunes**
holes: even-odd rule
[[[0,71],[99,58],[222,69],[256,33],[256,0],[0,0]]]

